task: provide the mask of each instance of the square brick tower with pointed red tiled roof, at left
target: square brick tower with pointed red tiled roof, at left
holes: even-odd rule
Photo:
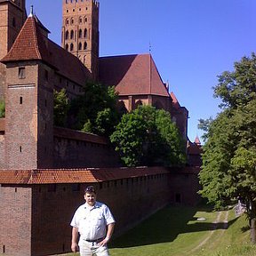
[[[6,66],[4,167],[9,170],[52,166],[56,68],[47,49],[46,32],[30,13],[1,60]]]

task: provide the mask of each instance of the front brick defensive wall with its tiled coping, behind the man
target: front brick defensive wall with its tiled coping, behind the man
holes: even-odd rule
[[[70,252],[72,215],[94,185],[119,236],[167,204],[196,204],[198,168],[102,168],[0,171],[0,253]],[[6,232],[8,230],[8,232]],[[152,232],[154,232],[152,230]]]

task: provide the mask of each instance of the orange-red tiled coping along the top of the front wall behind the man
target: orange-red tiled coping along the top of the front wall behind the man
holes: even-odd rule
[[[0,171],[0,184],[86,183],[169,173],[164,167]]]

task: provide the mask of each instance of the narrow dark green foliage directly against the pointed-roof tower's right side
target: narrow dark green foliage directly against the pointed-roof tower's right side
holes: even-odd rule
[[[53,91],[53,123],[57,126],[65,126],[68,117],[69,102],[66,90]]]

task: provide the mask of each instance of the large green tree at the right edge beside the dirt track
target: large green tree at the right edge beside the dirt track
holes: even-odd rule
[[[206,132],[203,166],[199,174],[202,196],[217,207],[246,204],[252,242],[256,218],[256,57],[244,57],[233,72],[219,76],[214,96],[222,111],[214,120],[201,120]]]

